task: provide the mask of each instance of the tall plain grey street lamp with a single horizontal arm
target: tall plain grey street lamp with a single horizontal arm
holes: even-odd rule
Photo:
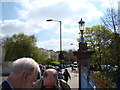
[[[61,21],[59,21],[59,20],[53,20],[53,19],[48,19],[48,20],[46,20],[46,21],[55,21],[55,22],[59,22],[60,23],[60,54],[59,54],[59,59],[60,59],[60,67],[61,67],[61,60],[63,59],[63,54],[62,54],[62,28],[61,28],[61,26],[62,26],[62,22]]]

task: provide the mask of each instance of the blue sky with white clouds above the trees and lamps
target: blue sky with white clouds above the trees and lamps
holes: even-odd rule
[[[78,49],[79,24],[85,27],[101,25],[100,17],[109,7],[118,8],[119,0],[1,0],[0,39],[13,34],[35,35],[39,48],[60,49],[62,22],[62,50]],[[72,43],[72,45],[71,45]]]

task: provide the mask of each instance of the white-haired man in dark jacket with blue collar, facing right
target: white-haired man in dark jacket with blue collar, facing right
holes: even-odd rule
[[[20,58],[13,62],[12,72],[1,84],[2,90],[32,88],[39,72],[39,65],[32,58]]]

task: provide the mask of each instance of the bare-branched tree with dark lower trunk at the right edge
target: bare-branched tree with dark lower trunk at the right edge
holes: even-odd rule
[[[118,10],[114,8],[108,8],[106,13],[103,17],[101,17],[101,20],[104,24],[104,26],[113,33],[112,38],[112,53],[114,56],[114,59],[117,61],[118,70],[120,69],[120,48],[119,48],[119,34],[117,33],[117,30],[119,29],[119,21],[118,21]],[[114,44],[114,45],[113,45]]]

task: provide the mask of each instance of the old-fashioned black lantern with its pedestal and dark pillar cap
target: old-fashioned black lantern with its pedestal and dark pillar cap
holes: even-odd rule
[[[73,52],[73,54],[78,59],[79,90],[81,90],[81,65],[86,64],[89,61],[89,59],[90,59],[91,55],[94,53],[94,51],[87,50],[87,43],[84,42],[83,31],[84,31],[85,22],[82,21],[82,18],[81,18],[81,20],[78,23],[79,23],[79,29],[81,32],[81,38],[79,41],[79,49],[77,51]]]

